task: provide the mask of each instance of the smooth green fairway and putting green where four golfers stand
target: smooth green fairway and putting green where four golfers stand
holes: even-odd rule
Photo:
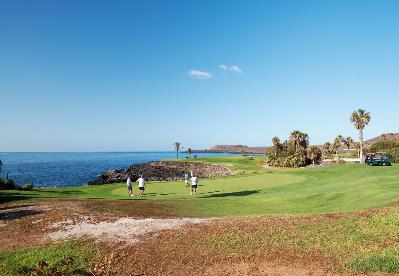
[[[266,173],[199,179],[198,195],[184,181],[147,183],[144,197],[127,196],[126,183],[98,186],[2,191],[0,202],[21,199],[84,198],[162,200],[171,214],[241,216],[335,213],[386,206],[399,200],[399,166],[350,164],[318,168],[268,170]]]

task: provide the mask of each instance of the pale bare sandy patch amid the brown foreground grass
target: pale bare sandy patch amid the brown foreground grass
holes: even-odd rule
[[[101,238],[102,241],[123,241],[126,245],[130,245],[151,236],[159,235],[164,230],[179,229],[188,223],[210,223],[210,221],[211,219],[198,218],[134,219],[130,217],[93,223],[92,217],[84,216],[49,225],[46,229],[59,230],[47,233],[45,239],[57,241],[67,238]]]

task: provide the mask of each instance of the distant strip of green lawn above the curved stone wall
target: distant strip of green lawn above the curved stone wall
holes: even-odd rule
[[[191,154],[193,156],[194,154]],[[266,168],[262,166],[266,164],[267,156],[252,156],[253,160],[248,160],[249,156],[216,156],[201,158],[182,158],[182,159],[163,159],[167,161],[183,161],[183,162],[203,162],[205,164],[219,164],[232,171],[244,170],[245,172],[265,172]]]

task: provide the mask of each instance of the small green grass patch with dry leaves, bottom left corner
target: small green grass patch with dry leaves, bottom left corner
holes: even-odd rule
[[[91,265],[98,261],[95,258],[98,253],[99,248],[95,244],[75,240],[8,250],[0,252],[0,275],[11,275],[17,269],[38,268],[40,259],[53,266],[64,256],[71,255],[76,256],[75,264],[59,268],[59,271],[69,272],[68,275],[88,275]]]

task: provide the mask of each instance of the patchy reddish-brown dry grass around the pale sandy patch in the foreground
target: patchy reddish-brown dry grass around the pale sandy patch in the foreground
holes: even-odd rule
[[[121,204],[71,199],[3,204],[0,252],[50,242],[51,239],[43,241],[43,236],[59,229],[46,226],[71,218],[70,225],[87,216],[93,224],[125,217],[178,218],[163,211],[166,206],[162,201],[152,202],[151,207],[144,201]],[[380,227],[385,227],[384,216],[395,217],[394,208],[324,215],[229,217],[209,224],[186,224],[160,235],[143,235],[141,241],[129,246],[123,241],[95,242],[106,252],[120,255],[114,268],[118,275],[362,274],[349,269],[346,260],[355,258],[360,247],[370,251],[397,246],[394,227],[369,227],[378,224],[377,219],[382,219]]]

